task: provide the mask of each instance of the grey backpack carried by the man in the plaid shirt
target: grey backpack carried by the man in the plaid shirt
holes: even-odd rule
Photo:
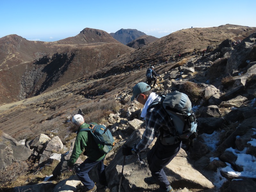
[[[194,138],[197,136],[198,121],[195,113],[192,111],[191,101],[188,96],[184,93],[175,91],[163,95],[164,100],[153,101],[149,108],[152,108],[159,103],[163,105],[166,113],[172,119],[174,124],[176,135],[173,137],[174,140],[187,141],[188,138],[193,134]],[[171,141],[172,142],[172,141]]]

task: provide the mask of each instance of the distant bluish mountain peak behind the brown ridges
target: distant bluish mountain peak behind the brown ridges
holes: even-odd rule
[[[137,39],[140,36],[146,35],[145,33],[138,31],[137,29],[120,29],[116,33],[110,33],[110,35],[121,42],[122,44],[128,44],[131,41]]]

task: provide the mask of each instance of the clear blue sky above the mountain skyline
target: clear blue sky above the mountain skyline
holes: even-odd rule
[[[256,27],[256,0],[0,0],[0,38],[57,41],[84,28],[163,37],[184,28]]]

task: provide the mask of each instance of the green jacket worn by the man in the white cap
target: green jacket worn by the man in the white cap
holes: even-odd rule
[[[83,123],[80,125],[76,135],[76,141],[73,148],[73,152],[68,160],[68,166],[71,167],[85,150],[86,156],[92,161],[101,161],[106,155],[100,153],[99,148],[96,142],[93,139],[93,136],[90,132],[80,131],[80,129],[90,127],[89,124]]]

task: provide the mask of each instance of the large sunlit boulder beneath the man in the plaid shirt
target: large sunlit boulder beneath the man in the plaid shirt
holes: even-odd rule
[[[133,146],[134,143],[138,143],[145,129],[139,129],[132,133],[125,144]],[[159,188],[158,185],[148,185],[144,182],[145,177],[150,177],[151,173],[148,169],[146,154],[150,148],[152,148],[155,140],[150,144],[145,152],[140,153],[140,157],[144,164],[141,164],[134,156],[126,156],[122,180],[121,191],[154,191]],[[122,148],[120,148],[115,158],[110,162],[106,168],[108,186],[110,191],[118,191],[120,182],[120,173],[122,171],[123,164]],[[172,183],[172,187],[179,188],[180,186],[187,188],[201,188],[209,189],[213,188],[211,181],[207,180],[200,172],[198,172],[188,161],[187,154],[183,149],[180,149],[179,154],[168,164],[165,168],[165,173],[168,180]]]

